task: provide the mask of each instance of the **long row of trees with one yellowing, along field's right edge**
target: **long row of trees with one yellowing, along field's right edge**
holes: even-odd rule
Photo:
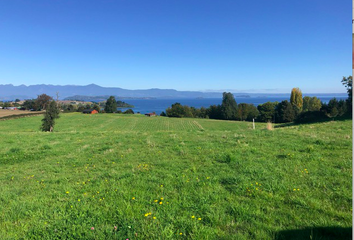
[[[332,98],[328,103],[321,102],[317,97],[302,97],[299,88],[293,88],[290,99],[281,102],[266,102],[257,107],[253,104],[237,104],[232,93],[223,93],[220,105],[208,108],[194,108],[180,103],[174,103],[162,112],[161,116],[177,118],[210,118],[221,120],[259,122],[311,122],[336,118],[352,114],[352,76],[343,77],[343,85],[347,88],[348,99],[337,100]]]

